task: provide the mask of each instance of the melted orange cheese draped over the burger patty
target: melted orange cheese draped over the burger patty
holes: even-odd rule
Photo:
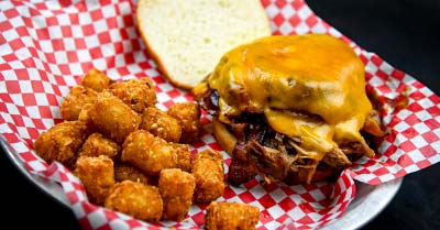
[[[275,131],[300,139],[301,151],[321,160],[340,143],[364,142],[360,130],[372,105],[364,66],[330,35],[278,35],[241,45],[208,77],[219,92],[219,121],[264,113]]]

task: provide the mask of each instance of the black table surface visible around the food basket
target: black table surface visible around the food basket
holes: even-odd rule
[[[378,54],[440,95],[440,1],[308,0],[307,3],[361,47]],[[0,155],[0,228],[80,229],[69,209],[26,180],[4,153]],[[407,175],[396,197],[362,229],[440,229],[438,182],[440,164]]]

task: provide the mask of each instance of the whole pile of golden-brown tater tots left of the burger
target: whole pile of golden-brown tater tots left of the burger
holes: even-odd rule
[[[90,202],[147,222],[179,221],[193,204],[209,204],[206,229],[255,229],[260,210],[216,202],[224,190],[223,158],[205,150],[191,157],[200,107],[155,107],[147,78],[114,81],[91,69],[63,99],[63,122],[41,133],[34,150],[81,180]]]

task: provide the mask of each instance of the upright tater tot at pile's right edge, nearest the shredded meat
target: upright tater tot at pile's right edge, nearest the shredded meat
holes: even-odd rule
[[[209,202],[224,191],[223,157],[220,152],[205,150],[196,155],[193,165],[196,178],[194,199],[196,202]]]

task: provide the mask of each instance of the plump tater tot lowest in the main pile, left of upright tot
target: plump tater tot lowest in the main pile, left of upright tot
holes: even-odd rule
[[[162,217],[163,201],[156,187],[124,180],[113,186],[105,207],[136,219],[157,222]]]

